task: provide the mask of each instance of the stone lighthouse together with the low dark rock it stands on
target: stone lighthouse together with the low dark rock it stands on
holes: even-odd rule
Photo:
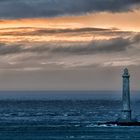
[[[116,121],[99,122],[98,125],[140,126],[140,122],[131,116],[130,104],[130,74],[125,68],[122,75],[122,114]]]

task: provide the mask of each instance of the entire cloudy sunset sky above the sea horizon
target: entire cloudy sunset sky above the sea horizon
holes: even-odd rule
[[[0,90],[140,89],[139,0],[0,0]]]

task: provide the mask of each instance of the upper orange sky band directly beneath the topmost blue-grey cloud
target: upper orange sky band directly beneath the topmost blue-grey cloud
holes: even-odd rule
[[[1,28],[118,28],[124,31],[140,32],[140,11],[127,13],[91,13],[82,16],[57,18],[34,18],[19,20],[0,20]]]

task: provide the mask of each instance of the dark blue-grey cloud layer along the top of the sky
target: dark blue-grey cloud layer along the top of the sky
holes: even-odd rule
[[[0,0],[0,18],[54,17],[89,12],[125,12],[139,0]]]

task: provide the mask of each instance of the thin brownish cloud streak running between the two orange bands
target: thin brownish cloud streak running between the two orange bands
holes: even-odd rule
[[[119,29],[110,29],[110,28],[75,28],[75,29],[49,29],[49,28],[6,28],[10,29],[12,31],[6,31],[5,29],[0,29],[0,31],[3,31],[0,33],[1,36],[8,36],[8,35],[14,35],[14,36],[33,36],[33,35],[58,35],[58,34],[93,34],[94,35],[111,35],[111,36],[122,36],[122,35],[130,35],[134,32],[130,31],[121,31]],[[32,29],[32,30],[28,30]],[[18,32],[17,32],[18,30]]]

